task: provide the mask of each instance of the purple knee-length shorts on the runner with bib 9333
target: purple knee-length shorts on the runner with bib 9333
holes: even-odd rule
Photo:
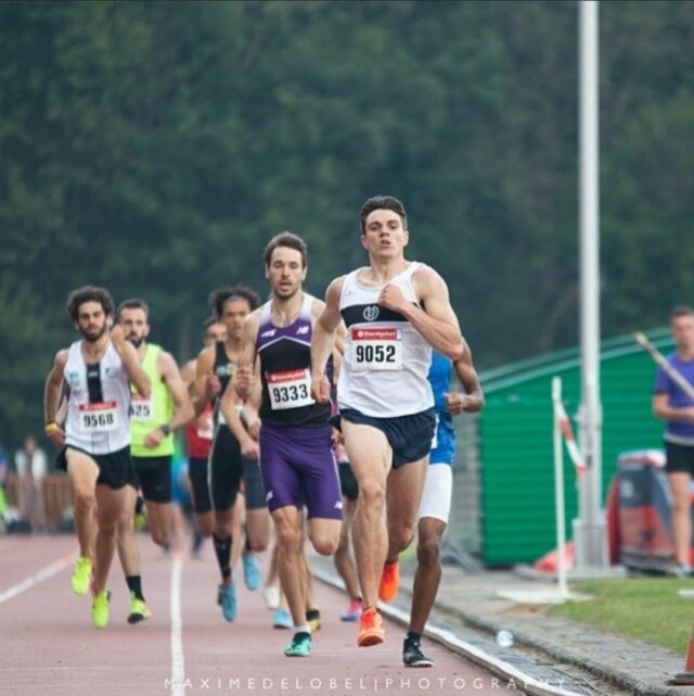
[[[260,428],[260,473],[270,512],[306,504],[308,518],[343,518],[337,463],[333,454],[333,428]]]

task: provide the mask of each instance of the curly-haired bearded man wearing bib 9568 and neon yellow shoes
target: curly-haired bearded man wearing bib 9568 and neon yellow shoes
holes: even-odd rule
[[[134,347],[120,327],[112,328],[113,311],[113,299],[104,288],[86,286],[69,293],[67,315],[81,340],[55,355],[43,403],[46,434],[61,448],[57,467],[67,471],[75,493],[79,558],[70,583],[76,594],[86,595],[94,571],[91,617],[99,629],[108,624],[106,581],[118,520],[128,503],[128,486],[134,482],[130,383],[143,397],[151,391]],[[64,384],[68,396],[63,430],[56,417]]]

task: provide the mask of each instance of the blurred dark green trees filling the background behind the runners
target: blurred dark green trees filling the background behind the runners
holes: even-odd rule
[[[692,2],[601,4],[605,337],[694,302],[692,45]],[[577,141],[574,2],[1,3],[0,436],[40,430],[72,288],[185,359],[272,235],[319,296],[364,263],[374,193],[479,367],[575,344]]]

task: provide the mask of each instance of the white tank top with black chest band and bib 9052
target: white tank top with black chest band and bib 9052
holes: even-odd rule
[[[412,274],[421,266],[411,262],[390,280],[416,306]],[[432,347],[401,314],[378,306],[383,287],[362,286],[357,279],[359,270],[345,278],[339,296],[347,337],[337,405],[340,410],[354,408],[375,418],[426,410],[434,404],[426,379]]]

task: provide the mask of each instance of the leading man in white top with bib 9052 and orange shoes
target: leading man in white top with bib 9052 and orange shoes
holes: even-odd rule
[[[458,359],[463,340],[444,279],[404,258],[410,232],[402,203],[371,198],[360,223],[370,265],[327,288],[311,342],[311,393],[320,403],[330,397],[323,371],[344,319],[337,402],[359,484],[354,540],[363,611],[357,644],[370,646],[384,640],[377,599],[388,602],[397,592],[398,554],[412,541],[426,477],[435,428],[426,379],[432,347]]]

